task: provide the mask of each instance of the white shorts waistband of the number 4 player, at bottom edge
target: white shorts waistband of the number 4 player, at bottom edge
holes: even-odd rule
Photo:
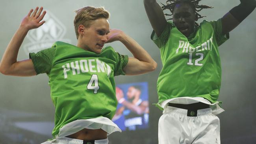
[[[63,144],[93,144],[90,142],[86,142],[85,140],[79,140],[68,137],[58,138],[58,142]],[[102,140],[94,140],[94,144],[108,144],[108,138]]]

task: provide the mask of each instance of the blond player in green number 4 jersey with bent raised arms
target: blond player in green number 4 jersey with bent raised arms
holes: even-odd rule
[[[114,76],[138,75],[156,69],[156,62],[134,39],[121,30],[109,28],[109,12],[99,7],[76,11],[76,46],[55,42],[51,48],[30,53],[17,61],[29,30],[39,28],[46,11],[31,9],[9,42],[0,72],[10,76],[49,77],[51,98],[56,108],[54,138],[44,144],[108,144],[107,135],[121,131],[111,121],[117,99]],[[108,42],[120,41],[134,55],[121,55]]]

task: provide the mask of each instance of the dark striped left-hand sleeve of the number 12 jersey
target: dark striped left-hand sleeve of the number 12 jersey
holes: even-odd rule
[[[160,37],[158,37],[158,35],[156,34],[155,31],[152,32],[150,38],[156,44],[156,46],[158,46],[158,48],[163,48],[163,46],[168,41],[169,36],[170,36],[171,28],[172,28],[172,23],[171,22],[167,22],[167,24],[165,26],[165,29],[161,33]]]

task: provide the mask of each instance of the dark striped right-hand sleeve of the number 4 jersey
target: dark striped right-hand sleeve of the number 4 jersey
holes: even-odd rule
[[[118,52],[116,52],[116,54],[117,61],[115,65],[114,76],[125,75],[125,72],[122,69],[128,63],[128,55],[121,55]]]

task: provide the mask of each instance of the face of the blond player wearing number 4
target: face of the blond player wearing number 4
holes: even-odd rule
[[[101,53],[104,44],[108,41],[109,23],[106,18],[95,20],[89,28],[85,28],[83,33],[83,47],[86,50]]]

